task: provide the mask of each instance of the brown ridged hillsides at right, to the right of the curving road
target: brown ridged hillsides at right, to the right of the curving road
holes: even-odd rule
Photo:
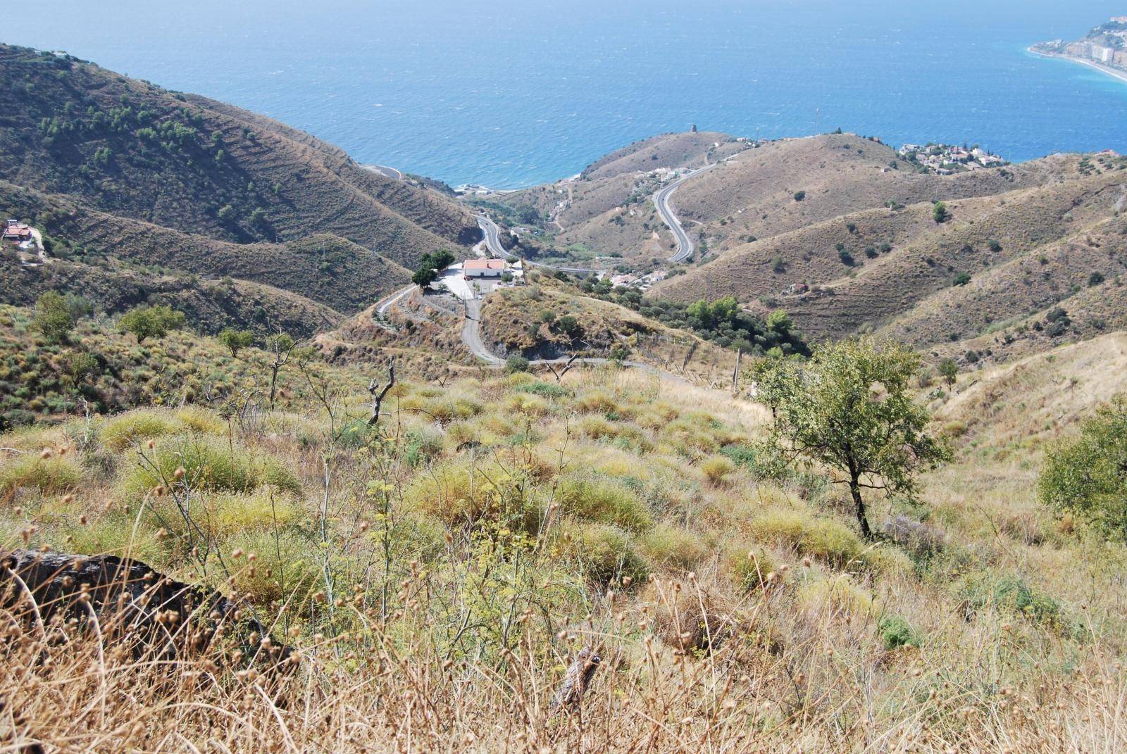
[[[716,216],[724,201],[731,202],[728,209],[755,203],[715,224],[698,209],[703,233],[713,240],[710,257],[649,295],[735,295],[753,310],[786,309],[815,338],[881,329],[942,348],[1044,316],[1124,270],[1122,158],[1057,156],[953,176],[900,175],[859,160],[859,151],[875,148],[845,139],[827,136],[819,149],[836,150],[851,167],[827,172],[820,183],[788,161],[764,178],[772,193],[740,196],[739,176],[749,175],[740,163],[748,158],[687,181],[676,196],[683,216],[693,216],[694,206],[712,207]],[[806,141],[810,147],[817,140]],[[762,156],[772,147],[786,144],[748,154],[763,168]],[[791,193],[799,187],[806,187],[801,202]],[[887,205],[889,199],[895,204]],[[943,222],[933,218],[934,201],[947,206]],[[1088,318],[1076,313],[1077,320]]]

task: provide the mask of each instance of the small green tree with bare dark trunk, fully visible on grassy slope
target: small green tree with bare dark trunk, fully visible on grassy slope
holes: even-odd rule
[[[870,339],[822,346],[806,365],[769,358],[756,369],[761,399],[774,415],[770,455],[786,463],[805,455],[842,472],[837,481],[849,485],[867,538],[862,489],[911,495],[920,469],[950,458],[911,394],[919,369],[915,352]]]

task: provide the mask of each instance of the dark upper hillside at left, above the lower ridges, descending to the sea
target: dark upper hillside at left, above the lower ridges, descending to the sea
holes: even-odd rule
[[[17,186],[218,240],[331,232],[408,265],[472,233],[444,195],[229,105],[12,46],[0,74],[0,178]]]

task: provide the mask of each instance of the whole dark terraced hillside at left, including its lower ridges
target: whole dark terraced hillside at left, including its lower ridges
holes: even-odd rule
[[[168,301],[207,311],[205,331],[308,336],[480,236],[442,192],[229,105],[7,45],[0,77],[0,214],[48,247],[44,266],[0,260],[2,302],[56,287],[109,313]]]

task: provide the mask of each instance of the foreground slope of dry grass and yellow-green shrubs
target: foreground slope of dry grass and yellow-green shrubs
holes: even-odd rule
[[[1076,742],[1113,749],[1127,680],[1112,660],[1127,627],[1122,585],[1107,574],[1127,560],[1124,547],[1058,527],[1031,485],[1040,443],[1125,387],[1121,340],[1064,349],[1010,376],[964,378],[941,408],[946,423],[978,423],[965,427],[957,462],[924,479],[922,505],[873,499],[878,521],[930,516],[931,531],[943,532],[931,555],[861,543],[842,494],[816,470],[773,482],[718,461],[728,458],[722,449],[746,458],[735,451],[762,433],[761,407],[630,372],[576,371],[560,385],[526,374],[406,380],[384,406],[379,442],[353,434],[335,450],[323,435],[329,417],[293,372],[284,410],[246,419],[189,407],[9,433],[0,436],[15,451],[0,460],[0,542],[25,531],[33,547],[130,548],[214,583],[229,573],[260,614],[293,629],[290,641],[328,644],[308,653],[293,682],[272,689],[286,710],[278,716],[268,702],[246,701],[263,698],[252,692],[260,676],[213,669],[224,683],[179,686],[165,666],[106,653],[99,681],[89,667],[105,665],[86,639],[27,666],[65,690],[50,703],[27,675],[6,676],[0,691],[21,710],[18,740],[63,743],[79,724],[97,748],[153,747],[176,730],[233,749],[251,724],[264,746],[316,747],[330,735],[328,719],[347,730],[334,734],[338,751],[406,745],[406,720],[411,745],[427,748],[520,735],[536,751],[567,735],[602,751],[647,739],[663,754],[716,745],[861,752],[875,737],[937,752],[997,751],[1002,742],[1035,754]],[[1112,345],[1117,361],[1104,367],[1098,356]],[[104,345],[123,346],[135,351],[113,338]],[[178,360],[213,362],[236,384],[259,357],[232,361],[189,336],[176,348]],[[150,364],[163,358],[147,351]],[[365,381],[317,369],[337,385],[332,425],[363,419]],[[1098,390],[1082,380],[1057,396],[1062,379],[1093,369]],[[994,390],[1046,402],[1037,411],[999,406]],[[196,509],[208,513],[210,576],[188,555],[189,530],[161,517],[174,513],[170,498],[147,495],[141,470],[140,454],[161,458],[185,443],[208,449],[204,470],[286,470],[274,473],[284,487],[250,467],[238,489],[190,482]],[[1021,443],[1020,458],[1008,451]],[[43,447],[51,459],[38,459]],[[207,478],[188,465],[186,479]],[[318,594],[326,564],[341,595],[335,612]],[[886,645],[893,618],[917,648]],[[580,733],[545,707],[588,642],[603,665]],[[0,654],[19,663],[25,644],[0,644]],[[465,674],[478,672],[504,683],[465,693]],[[107,692],[106,706],[89,703]],[[411,694],[451,713],[438,724],[429,707],[401,703]],[[206,713],[194,711],[196,701]],[[135,726],[142,709],[145,724]],[[232,711],[222,726],[216,709]],[[673,724],[650,722],[666,719],[680,720],[675,735]]]

